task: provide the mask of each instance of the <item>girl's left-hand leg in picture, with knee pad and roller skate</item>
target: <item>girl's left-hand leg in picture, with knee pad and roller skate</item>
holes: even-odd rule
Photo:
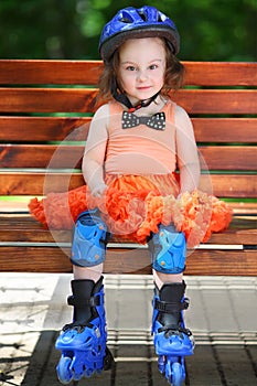
[[[55,344],[62,351],[57,376],[64,384],[108,369],[113,363],[106,346],[104,307],[106,235],[107,227],[96,211],[79,215],[71,257],[74,280],[67,299],[67,303],[73,305],[73,321],[64,325]]]

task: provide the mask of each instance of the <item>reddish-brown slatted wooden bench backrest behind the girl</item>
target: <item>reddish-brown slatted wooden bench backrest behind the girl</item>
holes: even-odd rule
[[[0,195],[42,195],[84,183],[81,158],[101,65],[0,61]],[[213,193],[253,199],[257,64],[184,65],[185,87],[174,99],[193,119]]]

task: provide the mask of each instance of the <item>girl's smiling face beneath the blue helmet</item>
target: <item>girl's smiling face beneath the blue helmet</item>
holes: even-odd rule
[[[163,86],[165,47],[159,37],[129,39],[119,49],[119,84],[132,104]]]

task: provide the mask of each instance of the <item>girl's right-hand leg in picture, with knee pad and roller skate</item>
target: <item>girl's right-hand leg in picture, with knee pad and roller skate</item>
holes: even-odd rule
[[[159,371],[174,385],[185,379],[184,356],[192,355],[192,333],[184,325],[183,311],[189,307],[184,297],[186,243],[174,226],[161,225],[149,240],[156,282],[152,334]]]

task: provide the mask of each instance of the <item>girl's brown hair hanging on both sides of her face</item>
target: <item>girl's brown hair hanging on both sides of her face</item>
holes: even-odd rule
[[[161,37],[165,47],[165,74],[162,95],[168,95],[171,89],[178,90],[183,83],[184,66],[172,53],[167,40]],[[111,89],[119,87],[119,50],[116,50],[109,62],[105,62],[104,71],[99,78],[98,103],[106,103],[113,98]]]

